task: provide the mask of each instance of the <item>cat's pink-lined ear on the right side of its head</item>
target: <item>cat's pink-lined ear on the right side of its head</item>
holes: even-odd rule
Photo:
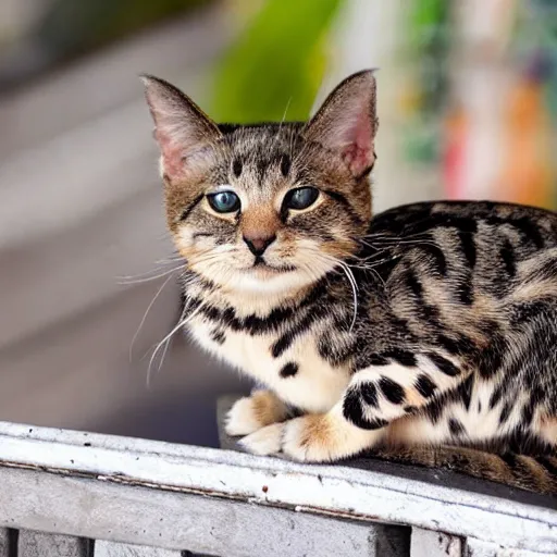
[[[304,136],[336,151],[354,176],[367,174],[375,161],[376,84],[373,70],[352,74],[325,99],[306,124]]]

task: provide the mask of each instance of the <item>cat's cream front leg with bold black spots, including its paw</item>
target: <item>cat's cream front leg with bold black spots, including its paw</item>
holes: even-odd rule
[[[354,456],[385,440],[388,425],[466,377],[453,359],[425,352],[411,358],[373,358],[354,374],[343,398],[326,413],[308,414],[263,428],[242,440],[250,453],[283,451],[301,461]]]

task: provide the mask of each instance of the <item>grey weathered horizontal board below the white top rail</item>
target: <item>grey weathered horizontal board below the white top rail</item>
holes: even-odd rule
[[[0,525],[226,557],[408,555],[396,527],[17,468],[0,485]]]

